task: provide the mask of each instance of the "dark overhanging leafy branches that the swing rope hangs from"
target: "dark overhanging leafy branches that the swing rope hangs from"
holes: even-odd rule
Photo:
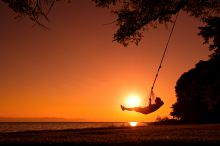
[[[147,26],[172,22],[180,10],[198,19],[219,15],[219,0],[93,0],[98,7],[111,8],[118,30],[114,40],[128,45],[139,43]]]

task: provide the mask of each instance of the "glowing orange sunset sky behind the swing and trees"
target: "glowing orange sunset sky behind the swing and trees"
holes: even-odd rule
[[[60,117],[81,121],[154,121],[168,116],[175,84],[207,46],[197,36],[200,23],[180,13],[155,92],[165,105],[155,113],[122,112],[119,105],[137,94],[142,105],[151,88],[169,35],[164,25],[144,33],[139,46],[112,42],[114,17],[90,1],[58,2],[49,30],[0,2],[0,117]]]

